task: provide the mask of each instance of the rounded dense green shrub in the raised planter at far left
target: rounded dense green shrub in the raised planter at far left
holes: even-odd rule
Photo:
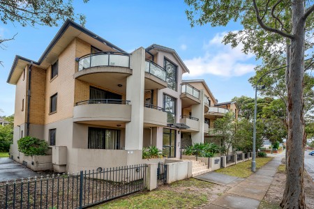
[[[45,140],[40,140],[35,137],[23,137],[17,141],[17,146],[20,152],[24,155],[46,155],[48,144]]]

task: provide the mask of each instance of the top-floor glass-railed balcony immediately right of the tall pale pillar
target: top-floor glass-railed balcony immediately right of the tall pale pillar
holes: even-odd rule
[[[161,89],[167,87],[166,71],[153,61],[145,61],[145,89]]]

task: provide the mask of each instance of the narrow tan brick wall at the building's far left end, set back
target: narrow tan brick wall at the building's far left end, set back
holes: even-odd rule
[[[18,79],[15,89],[15,111],[14,126],[22,125],[26,122],[27,109],[27,78],[28,66],[25,68],[25,79],[23,80],[23,72]],[[22,100],[24,99],[24,110],[22,111]]]

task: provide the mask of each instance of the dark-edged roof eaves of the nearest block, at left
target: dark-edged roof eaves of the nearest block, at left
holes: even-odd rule
[[[66,22],[64,22],[64,24],[59,29],[56,36],[54,36],[48,47],[45,49],[45,52],[43,52],[43,54],[40,56],[38,61],[31,61],[30,59],[26,59],[18,55],[15,56],[6,82],[9,84],[16,84],[17,79],[20,77],[20,73],[22,73],[25,65],[28,63],[33,62],[33,64],[38,65],[41,68],[47,68],[47,66],[51,64],[50,62],[55,61],[54,59],[56,59],[56,56],[58,56],[59,53],[61,53],[75,37],[85,41],[87,40],[87,42],[94,44],[105,45],[114,50],[117,50],[118,52],[125,52],[123,49],[120,49],[104,38],[97,36],[95,33],[85,29],[83,26],[80,26],[72,20],[66,20]]]

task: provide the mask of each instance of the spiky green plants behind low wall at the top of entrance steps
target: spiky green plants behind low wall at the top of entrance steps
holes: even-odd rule
[[[214,157],[215,153],[219,153],[219,150],[219,146],[214,143],[195,143],[193,146],[187,146],[183,154]]]

